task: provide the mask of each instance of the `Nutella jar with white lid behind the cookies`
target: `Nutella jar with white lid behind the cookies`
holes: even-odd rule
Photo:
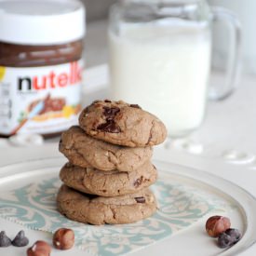
[[[59,134],[81,109],[85,8],[0,0],[0,135]]]

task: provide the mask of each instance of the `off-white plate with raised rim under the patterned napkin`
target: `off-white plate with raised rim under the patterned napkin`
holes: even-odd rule
[[[66,162],[63,157],[39,159],[35,161],[21,162],[0,168],[0,193],[9,189],[18,188],[24,184],[38,181],[46,177],[56,177],[59,169]],[[183,182],[205,190],[208,193],[219,195],[225,200],[236,205],[232,212],[228,213],[233,227],[239,228],[243,232],[242,239],[230,249],[219,249],[214,245],[213,239],[206,235],[204,225],[206,218],[197,222],[175,236],[157,242],[155,245],[141,249],[133,255],[236,255],[238,252],[246,250],[255,243],[256,240],[256,199],[248,192],[235,184],[210,175],[204,171],[194,168],[185,168],[170,163],[155,161],[160,175],[165,175],[163,171],[168,171],[168,177],[172,180]],[[162,172],[161,172],[162,170]],[[15,236],[20,229],[26,229],[19,224],[7,222],[0,219],[1,230],[6,230],[8,236]],[[44,232],[26,230],[33,240],[50,240],[51,236]],[[21,256],[25,249],[10,247],[0,249],[0,255]],[[51,255],[87,255],[84,251],[72,249],[68,251],[53,250]]]

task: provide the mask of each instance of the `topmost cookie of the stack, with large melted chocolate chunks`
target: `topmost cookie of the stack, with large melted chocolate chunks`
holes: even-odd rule
[[[167,137],[155,115],[124,101],[94,101],[80,114],[79,125],[94,138],[128,147],[154,146]]]

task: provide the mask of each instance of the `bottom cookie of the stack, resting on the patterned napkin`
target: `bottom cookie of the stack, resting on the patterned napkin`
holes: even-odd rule
[[[75,222],[123,224],[150,217],[156,210],[156,201],[148,189],[135,194],[103,197],[83,194],[61,185],[57,208],[61,214]]]

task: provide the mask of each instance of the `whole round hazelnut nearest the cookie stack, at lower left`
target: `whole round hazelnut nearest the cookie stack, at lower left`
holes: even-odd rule
[[[71,249],[74,246],[74,231],[68,228],[58,229],[52,239],[52,243],[57,249]]]

